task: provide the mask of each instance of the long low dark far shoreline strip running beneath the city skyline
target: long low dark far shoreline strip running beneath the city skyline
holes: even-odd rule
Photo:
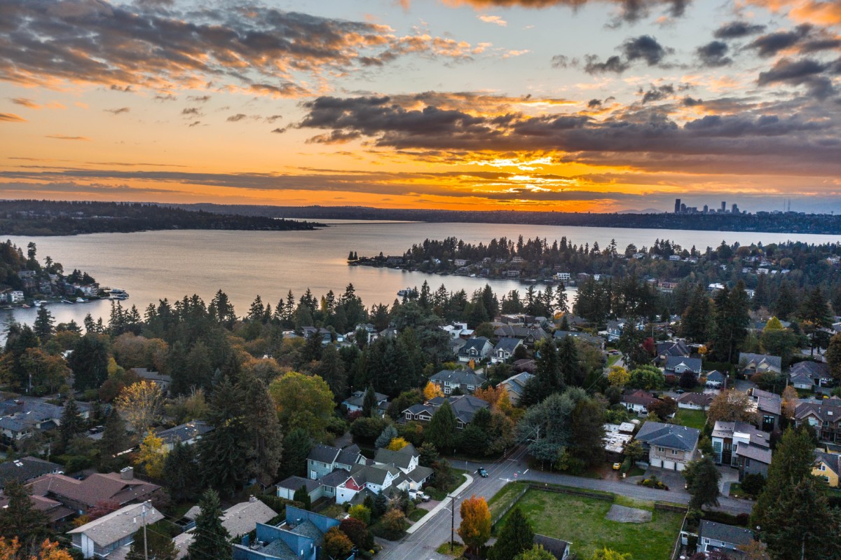
[[[584,227],[656,230],[756,231],[791,234],[841,234],[841,216],[797,212],[755,214],[590,214],[515,210],[380,209],[365,206],[238,206],[233,204],[177,204],[177,208],[212,213],[292,219],[388,219],[412,222],[470,222],[481,224],[574,225]]]

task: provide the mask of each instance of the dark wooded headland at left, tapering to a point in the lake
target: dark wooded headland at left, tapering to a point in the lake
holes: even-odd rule
[[[246,207],[235,207],[246,208]],[[154,203],[0,201],[0,235],[78,235],[146,230],[315,230],[323,224]]]

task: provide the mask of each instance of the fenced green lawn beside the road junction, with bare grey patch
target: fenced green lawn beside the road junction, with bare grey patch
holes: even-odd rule
[[[650,502],[616,498],[620,505],[653,510]],[[536,533],[571,542],[572,552],[580,558],[589,558],[602,547],[629,552],[638,560],[668,558],[684,517],[678,512],[654,511],[648,523],[619,523],[605,519],[612,505],[609,501],[540,490],[526,492],[518,505]]]

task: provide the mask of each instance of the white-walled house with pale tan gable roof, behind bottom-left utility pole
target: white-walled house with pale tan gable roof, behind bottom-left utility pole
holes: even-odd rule
[[[126,505],[124,508],[103,515],[97,520],[86,523],[71,531],[73,546],[82,550],[82,557],[107,557],[118,548],[128,547],[135,540],[135,533],[143,526],[151,525],[163,519],[163,514],[151,506],[143,504]]]

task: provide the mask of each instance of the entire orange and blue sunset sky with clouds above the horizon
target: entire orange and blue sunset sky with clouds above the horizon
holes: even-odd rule
[[[841,2],[0,0],[0,198],[841,212]]]

